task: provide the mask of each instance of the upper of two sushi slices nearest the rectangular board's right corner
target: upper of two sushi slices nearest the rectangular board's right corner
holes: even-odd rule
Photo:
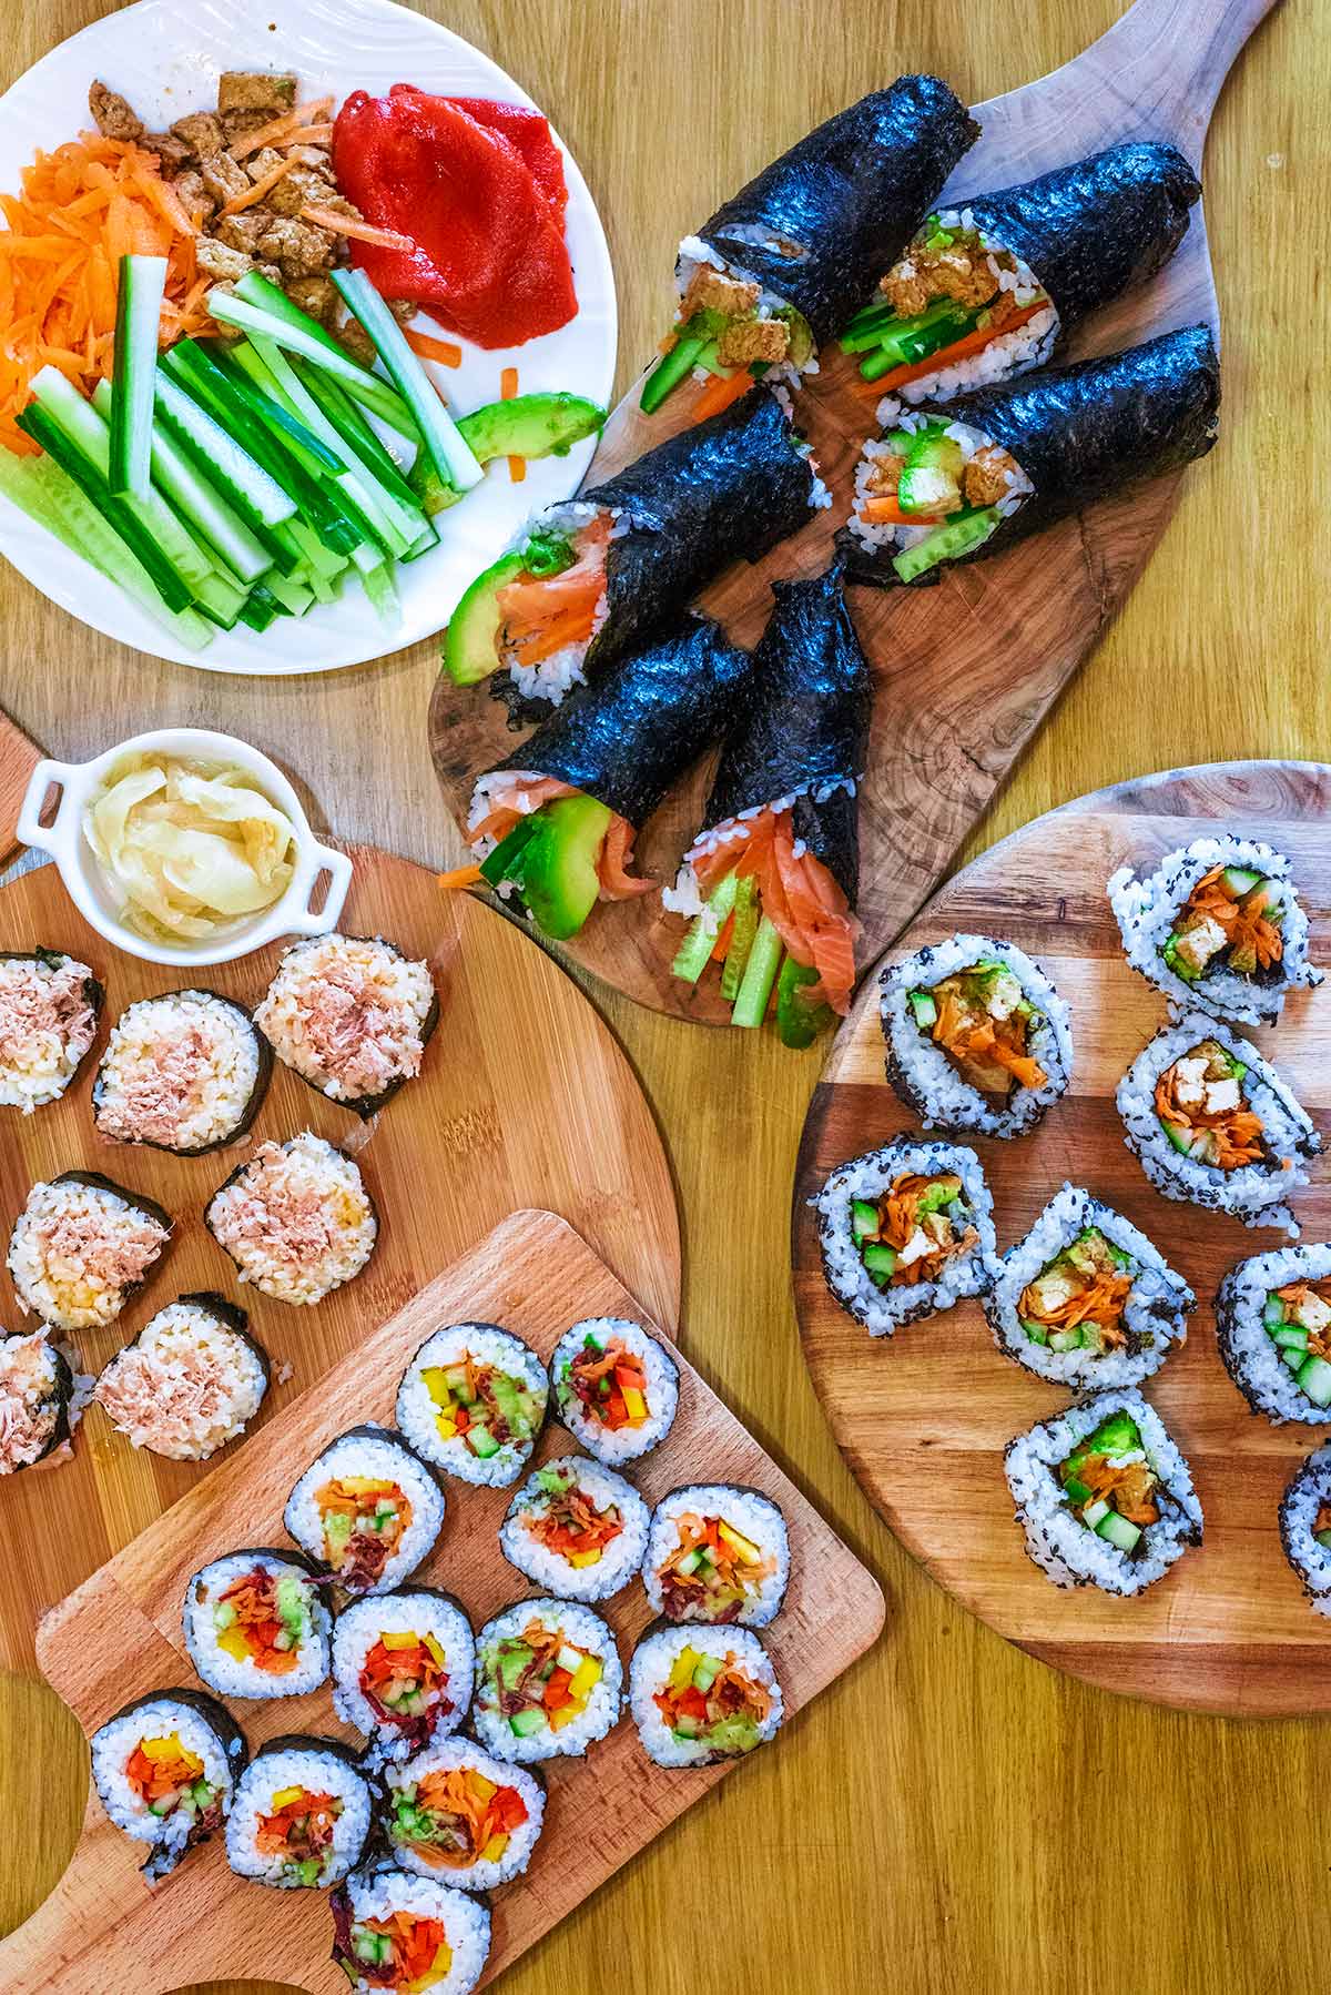
[[[766,1628],[790,1582],[786,1520],[756,1490],[692,1482],[653,1514],[643,1586],[670,1622]]]

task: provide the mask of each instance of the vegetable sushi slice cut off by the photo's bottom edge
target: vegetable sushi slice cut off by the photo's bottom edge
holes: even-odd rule
[[[333,1891],[329,1909],[333,1961],[353,1995],[471,1995],[485,1973],[489,1907],[445,1883],[371,1865]]]

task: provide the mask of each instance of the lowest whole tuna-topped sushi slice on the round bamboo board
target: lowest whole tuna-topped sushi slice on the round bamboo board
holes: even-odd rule
[[[247,1325],[222,1295],[182,1295],[112,1359],[94,1398],[136,1448],[206,1462],[245,1432],[267,1393],[267,1355]]]

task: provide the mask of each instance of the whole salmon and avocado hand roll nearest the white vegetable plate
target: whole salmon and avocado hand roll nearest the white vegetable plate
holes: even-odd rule
[[[756,389],[541,513],[453,610],[445,670],[469,686],[503,668],[513,712],[539,714],[830,503],[786,409]]]

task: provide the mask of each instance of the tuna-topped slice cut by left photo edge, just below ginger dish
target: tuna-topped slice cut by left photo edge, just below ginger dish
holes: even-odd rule
[[[0,1107],[58,1101],[98,1035],[104,990],[62,950],[0,954]]]

